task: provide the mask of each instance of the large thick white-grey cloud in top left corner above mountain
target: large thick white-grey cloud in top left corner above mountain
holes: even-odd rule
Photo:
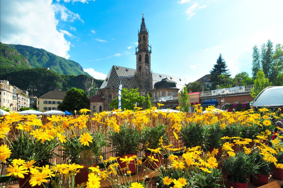
[[[0,1],[0,40],[8,44],[22,44],[43,48],[69,58],[70,42],[56,30],[58,20],[52,1]]]

